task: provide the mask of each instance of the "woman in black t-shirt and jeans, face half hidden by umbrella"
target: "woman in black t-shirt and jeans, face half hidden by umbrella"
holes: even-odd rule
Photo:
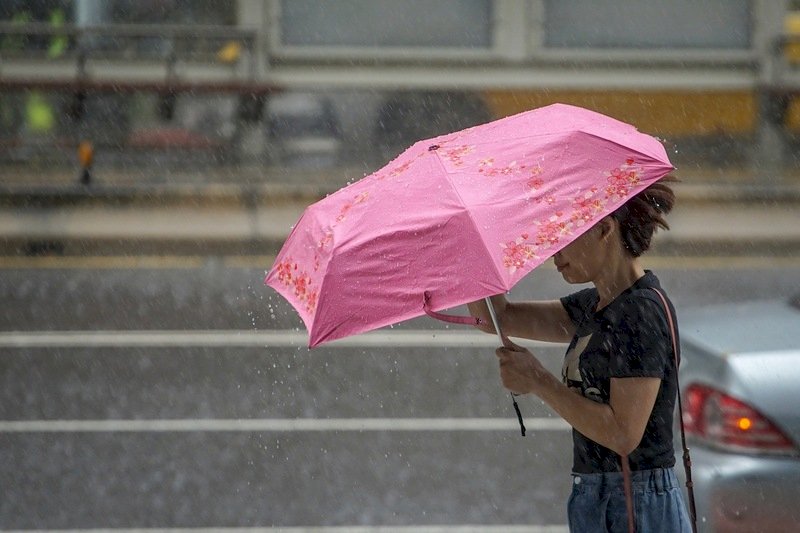
[[[661,290],[659,281],[638,259],[656,228],[669,228],[663,217],[675,196],[668,181],[651,185],[555,254],[568,283],[594,288],[560,301],[492,298],[504,335],[569,342],[561,379],[505,337],[497,357],[506,388],[536,394],[573,427],[571,531],[627,531],[623,457],[632,471],[636,530],[691,531],[673,471],[677,369],[670,326],[651,290]],[[488,324],[483,331],[494,333],[485,303],[469,309]]]

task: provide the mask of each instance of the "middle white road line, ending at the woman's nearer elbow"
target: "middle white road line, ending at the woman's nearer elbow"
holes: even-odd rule
[[[567,431],[560,418],[526,418],[529,431]],[[162,420],[3,420],[0,433],[319,431],[519,431],[509,418],[265,418]]]

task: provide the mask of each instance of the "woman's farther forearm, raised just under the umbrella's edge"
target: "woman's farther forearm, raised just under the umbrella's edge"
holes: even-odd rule
[[[575,334],[575,325],[559,300],[536,302],[509,302],[504,295],[492,296],[497,319],[503,334],[546,342],[569,342]],[[483,321],[481,331],[495,333],[489,310],[484,300],[467,304],[472,316]]]

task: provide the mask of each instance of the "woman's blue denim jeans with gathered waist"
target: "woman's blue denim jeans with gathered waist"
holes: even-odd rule
[[[567,503],[572,533],[627,533],[622,472],[572,474]],[[683,493],[671,468],[631,472],[636,532],[691,533]]]

